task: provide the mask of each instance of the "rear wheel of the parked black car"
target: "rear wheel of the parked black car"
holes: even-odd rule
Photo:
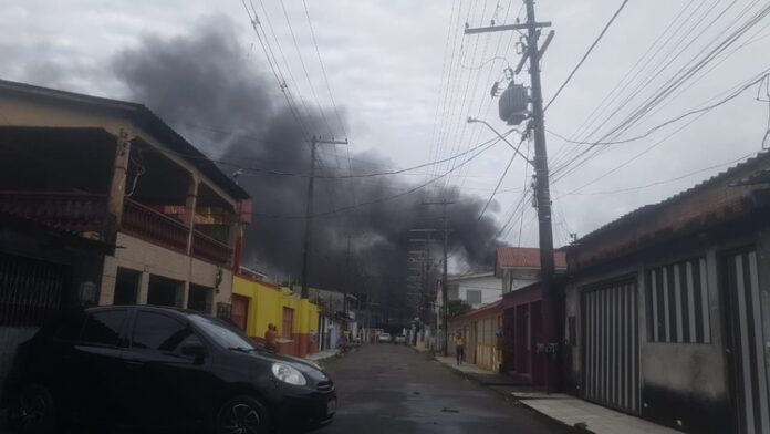
[[[12,430],[24,434],[52,433],[55,414],[51,392],[41,385],[24,388],[11,401],[8,422]]]

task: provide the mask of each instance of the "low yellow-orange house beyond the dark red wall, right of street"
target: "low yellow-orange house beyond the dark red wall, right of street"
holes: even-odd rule
[[[469,310],[449,318],[449,337],[461,333],[465,338],[466,362],[481,369],[499,372],[502,365],[502,300]],[[455,340],[447,345],[450,354],[457,354]]]

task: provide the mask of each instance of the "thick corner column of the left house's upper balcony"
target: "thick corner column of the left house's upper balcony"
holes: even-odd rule
[[[128,159],[131,156],[131,140],[132,137],[128,132],[121,130],[115,144],[115,163],[113,165],[112,180],[110,182],[107,216],[103,235],[107,244],[115,244],[117,230],[123,219],[123,203],[126,193],[126,173],[128,172]]]

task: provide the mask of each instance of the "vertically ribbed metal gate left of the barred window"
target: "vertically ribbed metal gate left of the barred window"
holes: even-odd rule
[[[582,293],[583,393],[628,413],[639,412],[636,281]]]

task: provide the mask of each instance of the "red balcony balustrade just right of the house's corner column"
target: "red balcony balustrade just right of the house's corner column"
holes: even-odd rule
[[[126,199],[121,226],[126,234],[187,255],[189,228],[153,208]]]

